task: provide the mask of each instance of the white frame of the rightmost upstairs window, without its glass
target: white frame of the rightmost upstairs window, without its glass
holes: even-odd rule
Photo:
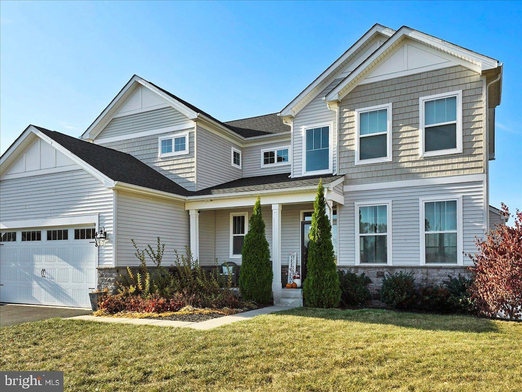
[[[431,124],[428,127],[424,125],[424,103],[435,99],[457,97],[457,120],[447,121],[437,124]],[[436,151],[424,151],[424,129],[432,126],[446,125],[457,123],[457,146],[456,148],[441,149]],[[450,93],[435,94],[427,97],[419,98],[419,156],[431,157],[439,155],[460,154],[462,153],[462,90],[451,91]]]

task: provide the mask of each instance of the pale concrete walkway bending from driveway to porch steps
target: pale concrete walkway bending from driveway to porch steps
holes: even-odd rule
[[[193,329],[212,329],[221,327],[222,325],[232,324],[236,321],[244,321],[259,315],[267,315],[269,313],[279,312],[280,310],[293,309],[295,306],[268,306],[266,308],[249,310],[248,312],[238,313],[232,316],[224,316],[212,318],[207,321],[192,322],[192,321],[170,321],[157,320],[149,318],[125,318],[125,317],[95,317],[91,315],[69,317],[69,320],[87,320],[99,322],[117,322],[118,324],[137,324],[137,325],[153,325],[159,327],[186,327]]]

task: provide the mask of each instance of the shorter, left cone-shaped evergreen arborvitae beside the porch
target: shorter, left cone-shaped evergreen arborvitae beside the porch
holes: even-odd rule
[[[261,200],[257,197],[254,213],[248,220],[248,233],[245,235],[241,251],[239,290],[245,301],[258,304],[266,304],[270,301],[274,276],[265,227],[261,214]]]

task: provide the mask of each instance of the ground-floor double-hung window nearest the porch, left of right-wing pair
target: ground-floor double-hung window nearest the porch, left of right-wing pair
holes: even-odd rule
[[[357,264],[392,264],[392,202],[355,203]]]

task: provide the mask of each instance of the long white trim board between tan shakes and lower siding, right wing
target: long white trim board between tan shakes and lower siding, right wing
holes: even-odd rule
[[[385,181],[385,182],[372,182],[369,184],[358,184],[358,185],[345,185],[343,191],[345,192],[356,192],[356,191],[371,191],[371,190],[385,190],[385,189],[397,189],[397,188],[410,188],[410,187],[428,187],[432,185],[447,185],[447,184],[458,184],[464,182],[482,182],[485,181],[485,174],[465,174],[461,176],[447,176],[447,177],[433,177],[433,178],[420,178],[416,180],[398,180],[398,181]]]

